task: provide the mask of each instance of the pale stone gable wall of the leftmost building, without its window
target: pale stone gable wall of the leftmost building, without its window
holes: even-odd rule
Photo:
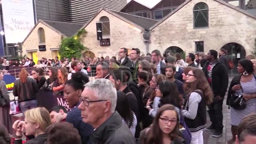
[[[45,45],[46,45],[46,51],[38,51],[38,28],[44,28],[44,34],[45,34]],[[47,59],[54,59],[52,57],[52,51],[51,48],[59,48],[59,44],[61,42],[61,35],[60,33],[52,30],[51,28],[45,26],[43,23],[39,22],[36,28],[31,32],[31,34],[28,36],[28,38],[25,40],[25,42],[22,45],[22,54],[27,54],[28,57],[30,57],[30,53],[28,53],[28,50],[37,50],[38,59],[41,59],[42,57]],[[44,44],[40,44],[44,45]]]

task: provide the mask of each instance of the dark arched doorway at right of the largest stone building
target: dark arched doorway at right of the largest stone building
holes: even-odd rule
[[[245,59],[246,57],[244,46],[238,43],[228,43],[222,46],[221,48],[227,50],[228,61],[232,61],[234,64],[234,68],[228,70],[228,75],[231,77],[238,75],[236,70],[238,61]]]

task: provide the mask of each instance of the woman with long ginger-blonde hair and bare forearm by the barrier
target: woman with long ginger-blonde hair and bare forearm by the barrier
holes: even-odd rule
[[[66,81],[68,80],[68,70],[67,68],[58,69],[58,78],[53,84],[53,94],[63,95],[63,88],[65,87]]]

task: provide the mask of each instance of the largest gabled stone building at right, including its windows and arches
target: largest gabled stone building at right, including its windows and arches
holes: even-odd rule
[[[222,0],[187,0],[150,28],[149,51],[224,48],[236,72],[237,61],[254,51],[255,38],[256,18],[250,13]]]

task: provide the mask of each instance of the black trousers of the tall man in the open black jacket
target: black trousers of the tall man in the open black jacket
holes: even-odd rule
[[[209,116],[212,122],[212,125],[215,127],[216,130],[223,129],[223,113],[222,113],[222,104],[223,100],[213,100],[213,102],[208,105],[209,108]]]

